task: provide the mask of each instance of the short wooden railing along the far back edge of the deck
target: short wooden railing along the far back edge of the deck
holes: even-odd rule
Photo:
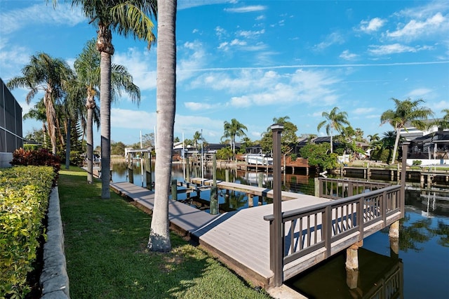
[[[316,195],[326,199],[341,199],[391,186],[387,182],[366,182],[363,180],[341,180],[336,178],[319,178],[316,183],[319,184],[319,194]]]

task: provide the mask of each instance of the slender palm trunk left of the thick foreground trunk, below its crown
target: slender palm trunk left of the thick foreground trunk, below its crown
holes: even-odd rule
[[[100,60],[101,198],[109,199],[111,175],[111,55],[101,52]]]

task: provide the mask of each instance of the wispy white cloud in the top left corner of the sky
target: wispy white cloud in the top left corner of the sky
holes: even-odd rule
[[[35,4],[27,8],[15,9],[0,13],[0,35],[11,34],[24,27],[35,24],[69,25],[87,22],[79,8],[60,3],[56,8],[52,5]]]

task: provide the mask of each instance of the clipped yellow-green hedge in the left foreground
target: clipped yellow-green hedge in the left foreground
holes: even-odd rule
[[[23,298],[29,292],[42,220],[55,179],[48,166],[0,169],[0,298]]]

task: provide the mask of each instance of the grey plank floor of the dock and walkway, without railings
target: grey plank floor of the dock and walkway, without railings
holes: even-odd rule
[[[129,182],[111,182],[111,187],[119,194],[133,199],[140,206],[152,211],[154,192]],[[239,185],[239,187],[251,186]],[[258,189],[260,190],[256,190],[257,192],[267,196],[266,189]],[[289,199],[282,202],[283,211],[330,201],[330,199],[306,194],[295,194],[295,198],[293,198],[292,194],[295,193],[284,194],[283,192],[283,197]],[[264,216],[272,213],[273,204],[220,215],[210,215],[205,211],[199,211],[192,206],[173,200],[169,201],[168,208],[170,227],[194,237],[199,241],[200,246],[222,260],[241,277],[264,288],[269,286],[269,281],[274,276],[269,265],[269,222],[264,220]]]

